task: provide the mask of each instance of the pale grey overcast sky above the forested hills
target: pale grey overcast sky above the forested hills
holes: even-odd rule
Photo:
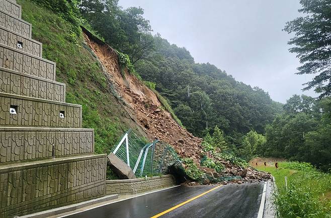
[[[288,52],[282,31],[299,16],[299,0],[120,0],[124,9],[144,9],[153,32],[187,48],[196,62],[216,65],[236,80],[259,86],[280,102],[302,92],[311,79],[296,75],[300,66]]]

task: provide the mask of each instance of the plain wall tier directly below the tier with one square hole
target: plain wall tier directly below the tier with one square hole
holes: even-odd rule
[[[3,44],[0,44],[0,67],[55,81],[54,62]]]

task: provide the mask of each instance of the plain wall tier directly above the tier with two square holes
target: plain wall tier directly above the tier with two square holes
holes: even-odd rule
[[[65,102],[65,84],[0,67],[0,92]]]

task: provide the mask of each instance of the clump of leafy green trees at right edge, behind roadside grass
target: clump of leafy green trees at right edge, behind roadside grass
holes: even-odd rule
[[[319,100],[294,95],[285,113],[266,127],[264,156],[310,162],[328,171],[331,159],[330,97]]]

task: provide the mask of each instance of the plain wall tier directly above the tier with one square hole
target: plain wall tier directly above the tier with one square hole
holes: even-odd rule
[[[8,14],[3,10],[0,10],[0,26],[31,38],[32,25],[20,18],[16,18],[15,16]]]

